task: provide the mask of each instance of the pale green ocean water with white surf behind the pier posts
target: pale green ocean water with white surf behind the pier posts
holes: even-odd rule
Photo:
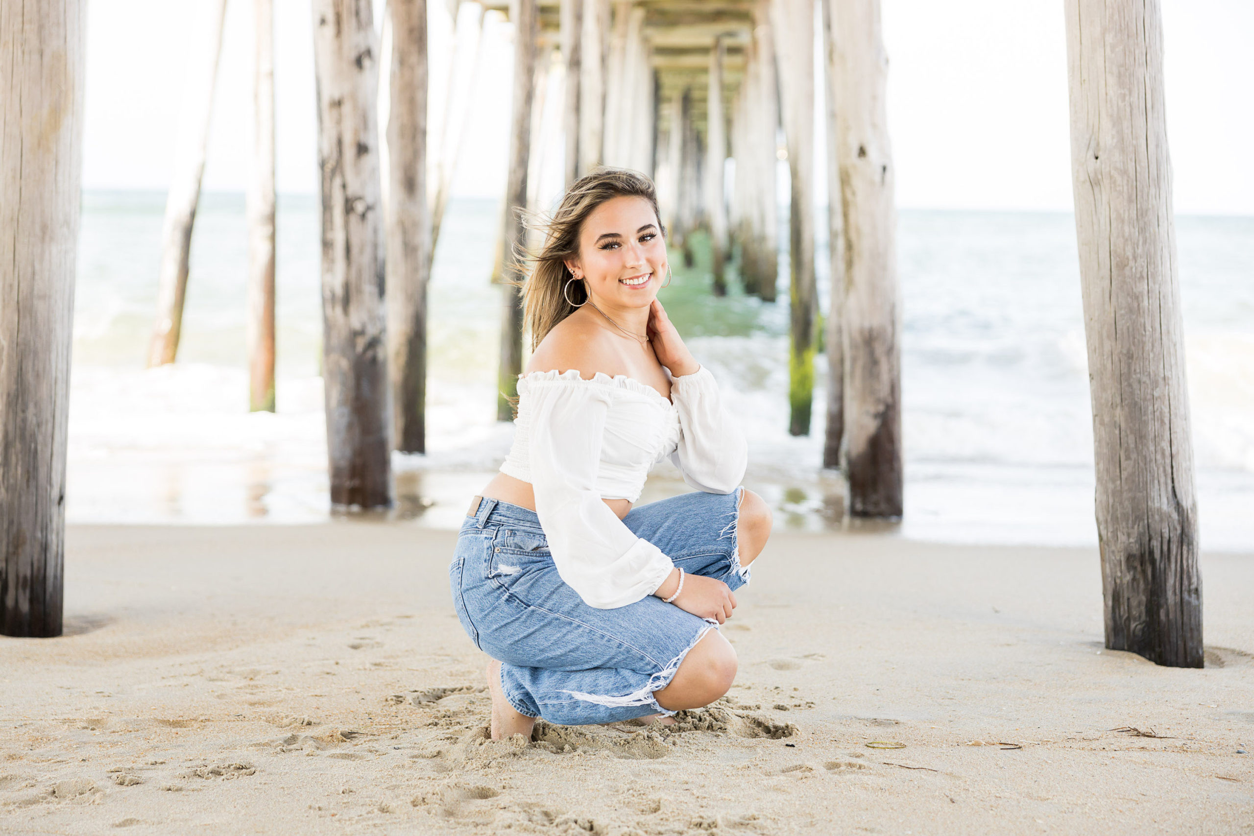
[[[317,212],[278,207],[278,412],[247,412],[242,196],[202,199],[179,362],[144,370],[164,196],[84,196],[74,320],[71,521],[326,519]],[[499,206],[451,203],[430,291],[429,450],[395,457],[398,509],[456,526],[503,460],[495,421]],[[1201,538],[1254,548],[1254,218],[1180,217],[1181,296]],[[823,226],[821,223],[819,224]],[[786,236],[781,236],[786,241]],[[826,254],[820,242],[820,297]],[[903,211],[905,516],[873,525],[949,541],[1095,544],[1092,430],[1068,214]],[[678,258],[672,259],[680,263]],[[825,358],[809,436],[788,435],[788,292],[709,293],[702,263],[662,302],[750,439],[746,484],[804,530],[859,528],[821,471]],[[641,501],[687,490],[660,465]]]

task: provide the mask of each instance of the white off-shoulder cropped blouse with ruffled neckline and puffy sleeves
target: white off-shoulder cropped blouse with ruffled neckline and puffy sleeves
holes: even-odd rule
[[[632,604],[673,568],[602,499],[635,503],[667,456],[685,483],[711,494],[730,494],[745,475],[749,447],[714,375],[701,366],[672,377],[671,399],[626,375],[518,376],[514,441],[500,473],[530,483],[558,574],[591,607]]]

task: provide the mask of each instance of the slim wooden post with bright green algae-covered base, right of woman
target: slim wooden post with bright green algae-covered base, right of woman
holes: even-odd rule
[[[793,199],[789,217],[789,434],[810,434],[814,401],[814,0],[775,0]]]

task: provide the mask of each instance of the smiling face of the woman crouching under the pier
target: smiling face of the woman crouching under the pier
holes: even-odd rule
[[[648,201],[616,197],[583,222],[579,257],[566,266],[587,280],[601,307],[647,307],[666,276],[666,241]]]

